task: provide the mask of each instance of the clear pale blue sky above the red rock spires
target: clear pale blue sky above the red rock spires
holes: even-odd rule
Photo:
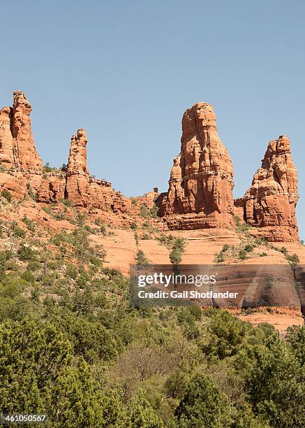
[[[167,190],[181,116],[197,101],[216,110],[235,197],[286,134],[304,238],[304,20],[303,1],[2,1],[0,105],[27,93],[54,166],[86,128],[90,173],[128,196]]]

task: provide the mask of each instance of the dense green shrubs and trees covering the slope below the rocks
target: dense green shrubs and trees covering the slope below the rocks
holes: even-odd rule
[[[305,327],[283,341],[213,308],[131,308],[128,280],[89,245],[100,223],[78,215],[47,243],[26,216],[1,232],[3,413],[47,413],[55,428],[305,426]]]

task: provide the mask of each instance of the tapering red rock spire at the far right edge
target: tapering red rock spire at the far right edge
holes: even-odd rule
[[[286,136],[270,141],[262,166],[252,185],[235,206],[244,211],[244,221],[261,228],[259,234],[269,241],[298,241],[295,207],[297,169],[292,161],[290,141]]]

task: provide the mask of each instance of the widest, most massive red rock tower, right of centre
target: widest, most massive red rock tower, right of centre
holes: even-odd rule
[[[233,166],[217,134],[214,109],[188,108],[182,118],[181,152],[174,159],[168,193],[158,198],[159,215],[170,229],[230,227]]]

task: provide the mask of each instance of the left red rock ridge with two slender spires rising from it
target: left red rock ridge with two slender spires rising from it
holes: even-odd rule
[[[9,190],[14,199],[30,193],[46,204],[69,199],[77,207],[123,213],[131,208],[129,199],[114,192],[110,182],[89,176],[84,129],[71,138],[66,169],[43,169],[31,131],[31,104],[21,91],[13,96],[13,107],[0,110],[0,191]]]

